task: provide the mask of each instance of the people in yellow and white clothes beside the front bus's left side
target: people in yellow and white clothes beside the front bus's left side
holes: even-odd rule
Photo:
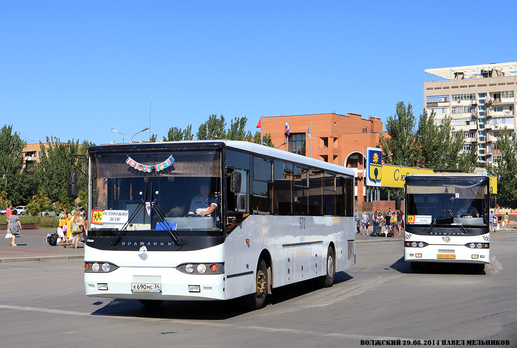
[[[59,212],[57,237],[60,238],[63,248],[71,245],[73,249],[77,249],[79,243],[82,243],[81,237],[84,237],[84,240],[86,240],[85,219],[86,213],[84,208],[73,209],[68,214],[65,213],[65,209],[61,209]],[[69,241],[71,244],[68,243]]]

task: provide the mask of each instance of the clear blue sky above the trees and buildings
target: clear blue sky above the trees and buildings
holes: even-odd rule
[[[424,69],[517,61],[498,2],[2,1],[0,126],[27,142],[192,132],[210,114],[424,106]],[[497,23],[490,23],[497,20]],[[488,25],[487,25],[488,24]],[[267,129],[265,129],[267,132]],[[125,139],[127,142],[127,139]]]

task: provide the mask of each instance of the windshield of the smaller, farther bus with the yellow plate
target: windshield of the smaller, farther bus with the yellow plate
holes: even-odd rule
[[[406,215],[415,225],[486,225],[488,181],[419,179],[406,182]]]

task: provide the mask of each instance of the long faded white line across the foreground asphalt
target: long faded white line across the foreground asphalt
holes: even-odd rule
[[[63,311],[63,310],[49,309],[49,308],[35,308],[35,307],[9,306],[9,305],[0,305],[0,308],[19,310],[19,311],[52,313],[52,314],[80,315],[80,316],[92,316],[92,317],[97,316],[97,315],[92,315],[91,313]],[[320,332],[320,331],[313,331],[313,330],[286,329],[286,328],[276,328],[276,327],[267,327],[267,326],[222,324],[222,323],[207,322],[207,321],[194,321],[194,320],[144,318],[144,317],[137,317],[137,316],[116,316],[116,315],[98,315],[97,317],[109,318],[109,319],[139,320],[139,321],[146,321],[146,322],[195,325],[195,326],[203,326],[203,327],[211,326],[211,327],[255,330],[255,331],[265,331],[265,332],[285,332],[286,334],[296,334],[296,335],[305,335],[305,336],[314,336],[314,337],[340,337],[340,338],[349,338],[349,339],[354,339],[354,340],[412,340],[412,341],[414,340],[414,339],[410,339],[410,338],[400,338],[400,337],[335,334],[332,332]]]

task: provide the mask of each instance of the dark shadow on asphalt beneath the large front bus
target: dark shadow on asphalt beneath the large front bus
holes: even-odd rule
[[[345,272],[338,272],[334,278],[334,286],[353,279]],[[276,305],[293,298],[307,295],[316,291],[325,291],[315,285],[315,282],[299,282],[273,289],[268,295],[268,305]],[[93,302],[101,306],[92,315],[135,316],[143,318],[183,319],[183,320],[225,320],[248,313],[239,299],[227,301],[164,301],[161,306],[144,306],[139,300],[106,299]]]

